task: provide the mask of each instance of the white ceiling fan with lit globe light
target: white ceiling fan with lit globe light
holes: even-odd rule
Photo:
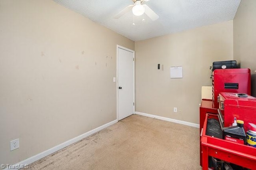
[[[119,12],[118,14],[116,14],[116,16],[114,16],[115,19],[120,18],[122,15],[124,15],[125,13],[129,12],[132,9],[132,13],[135,16],[141,16],[142,14],[146,14],[151,20],[157,20],[159,18],[159,16],[151,9],[149,8],[146,4],[142,5],[142,3],[145,1],[149,1],[149,0],[132,0],[134,2],[133,5],[129,5],[126,8],[124,8],[121,12]]]

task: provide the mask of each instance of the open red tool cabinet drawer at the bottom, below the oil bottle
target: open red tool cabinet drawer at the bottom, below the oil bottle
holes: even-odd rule
[[[209,118],[218,120],[218,116],[206,114],[201,137],[202,169],[208,170],[208,156],[213,156],[226,162],[256,170],[256,148],[206,135]]]

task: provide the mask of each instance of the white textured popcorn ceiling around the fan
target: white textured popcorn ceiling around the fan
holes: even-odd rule
[[[145,40],[191,28],[232,20],[241,0],[150,0],[147,4],[159,18],[150,20],[132,11],[113,17],[132,0],[54,0],[111,30],[133,40]],[[145,21],[142,21],[145,19]],[[135,20],[135,25],[133,25]]]

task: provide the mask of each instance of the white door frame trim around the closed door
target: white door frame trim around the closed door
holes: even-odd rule
[[[128,49],[126,47],[123,47],[121,45],[116,45],[116,119],[118,120],[118,48],[120,49],[124,49],[126,51],[130,51],[133,53],[133,58],[134,58],[134,62],[133,62],[133,114],[135,113],[135,51],[132,49]]]

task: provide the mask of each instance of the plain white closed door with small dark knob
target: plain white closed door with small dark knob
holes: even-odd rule
[[[134,51],[117,46],[118,121],[134,114]]]

